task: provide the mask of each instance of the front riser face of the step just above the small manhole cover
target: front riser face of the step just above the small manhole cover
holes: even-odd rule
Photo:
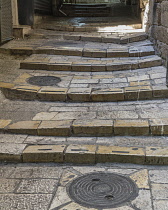
[[[121,64],[102,64],[102,65],[91,65],[91,64],[47,64],[47,63],[29,63],[22,62],[20,64],[21,69],[29,70],[47,70],[47,71],[74,71],[74,72],[102,72],[102,71],[123,71],[123,70],[135,70],[141,68],[150,68],[154,66],[161,66],[162,60],[158,59],[155,61],[146,61],[141,63],[123,63]]]

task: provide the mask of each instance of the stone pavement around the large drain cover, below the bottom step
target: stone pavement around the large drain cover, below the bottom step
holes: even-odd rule
[[[0,164],[0,209],[97,209],[75,203],[67,193],[75,178],[92,172],[130,177],[139,189],[134,200],[109,209],[168,209],[168,167],[133,164]]]

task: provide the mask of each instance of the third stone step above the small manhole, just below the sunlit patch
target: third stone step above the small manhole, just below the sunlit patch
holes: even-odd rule
[[[142,32],[136,33],[116,33],[106,34],[106,33],[89,33],[89,32],[59,32],[51,31],[45,29],[35,29],[32,31],[30,37],[31,39],[63,39],[63,40],[73,40],[73,41],[88,41],[88,42],[102,42],[102,43],[114,43],[114,44],[127,44],[133,42],[142,42],[147,39],[147,35]],[[146,45],[152,45],[149,40],[146,40]],[[140,44],[141,45],[141,44]]]

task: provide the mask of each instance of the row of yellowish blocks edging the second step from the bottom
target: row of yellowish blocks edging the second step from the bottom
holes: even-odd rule
[[[32,120],[0,119],[0,132],[38,136],[163,136],[168,118],[149,120]]]

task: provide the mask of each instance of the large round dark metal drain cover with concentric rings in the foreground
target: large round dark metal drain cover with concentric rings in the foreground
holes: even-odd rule
[[[128,177],[112,173],[91,173],[73,180],[69,196],[89,208],[113,208],[135,199],[136,184]]]

